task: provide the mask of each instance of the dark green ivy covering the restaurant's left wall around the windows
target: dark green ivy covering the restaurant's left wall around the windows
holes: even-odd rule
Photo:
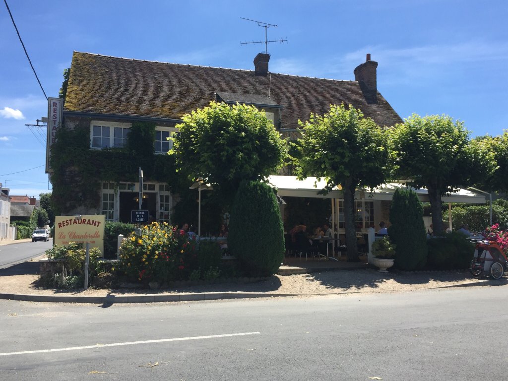
[[[81,118],[73,130],[60,129],[51,146],[55,215],[78,207],[96,208],[103,181],[138,182],[139,167],[145,181],[168,183],[175,193],[188,188],[188,180],[176,171],[174,158],[154,153],[154,122],[133,122],[124,148],[90,149],[90,121]]]

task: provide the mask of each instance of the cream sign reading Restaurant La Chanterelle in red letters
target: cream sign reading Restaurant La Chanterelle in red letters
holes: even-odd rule
[[[90,247],[99,247],[104,255],[104,224],[104,214],[55,217],[55,245],[89,243]]]

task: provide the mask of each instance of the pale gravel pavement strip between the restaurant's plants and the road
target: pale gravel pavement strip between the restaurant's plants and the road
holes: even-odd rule
[[[203,292],[264,292],[267,294],[323,295],[336,293],[394,293],[447,287],[487,286],[508,284],[508,277],[499,280],[473,278],[469,272],[422,272],[382,274],[373,269],[336,270],[298,275],[273,275],[268,280],[250,283],[224,283],[161,289],[66,290],[38,288],[37,275],[0,276],[0,293],[38,295],[146,295]]]

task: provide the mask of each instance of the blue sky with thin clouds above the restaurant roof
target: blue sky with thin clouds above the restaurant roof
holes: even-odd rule
[[[58,1],[8,0],[48,97],[57,97],[72,52],[253,70],[264,28],[270,71],[354,80],[366,53],[377,87],[406,118],[448,114],[471,136],[508,128],[508,3],[505,1]],[[12,195],[49,192],[47,114],[4,2],[0,3],[0,182]],[[39,167],[39,168],[35,168]],[[35,169],[32,169],[35,168]],[[16,173],[19,172],[19,173]],[[7,180],[7,181],[6,181]]]

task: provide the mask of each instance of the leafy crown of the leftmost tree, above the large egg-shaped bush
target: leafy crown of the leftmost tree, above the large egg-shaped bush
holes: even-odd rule
[[[201,177],[233,200],[242,180],[276,171],[286,145],[264,112],[254,106],[211,102],[183,116],[171,154],[189,177]]]

